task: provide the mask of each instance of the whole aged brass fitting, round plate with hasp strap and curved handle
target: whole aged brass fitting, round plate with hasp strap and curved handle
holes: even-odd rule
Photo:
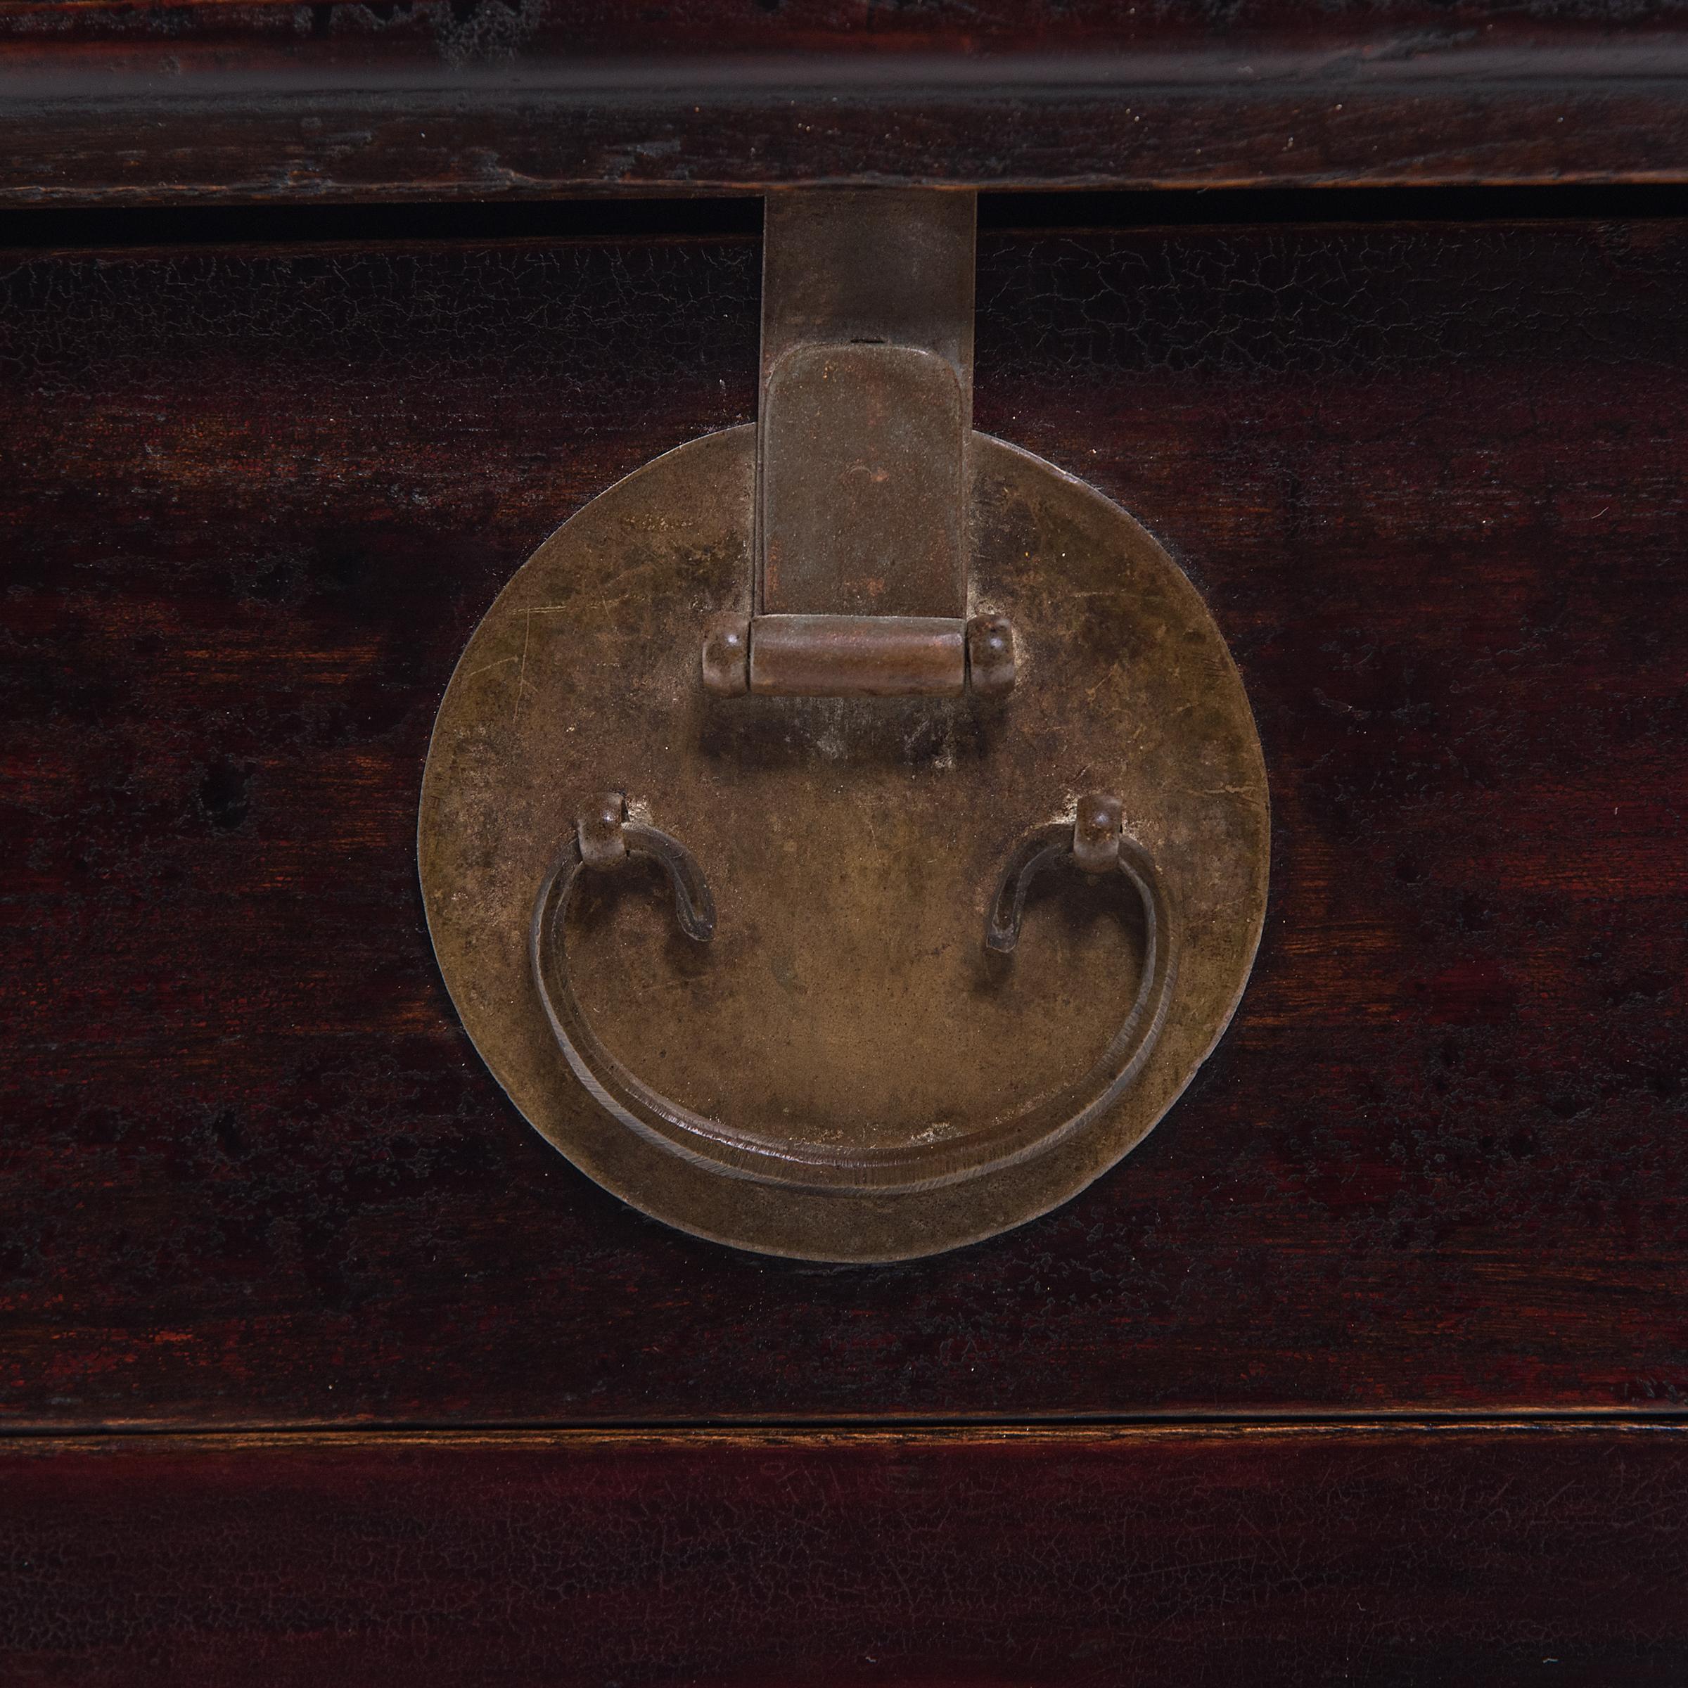
[[[770,208],[790,402],[559,528],[429,749],[429,928],[481,1055],[599,1183],[741,1247],[903,1259],[1067,1200],[1188,1084],[1259,940],[1237,672],[1138,523],[971,430],[971,230],[957,196]]]

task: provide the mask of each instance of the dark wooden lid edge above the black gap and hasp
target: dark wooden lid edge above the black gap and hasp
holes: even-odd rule
[[[1688,181],[1680,0],[0,3],[0,204]]]

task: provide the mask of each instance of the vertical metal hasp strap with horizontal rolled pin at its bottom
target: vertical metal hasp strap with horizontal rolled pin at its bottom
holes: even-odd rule
[[[766,204],[753,613],[704,628],[717,695],[999,695],[969,618],[976,199],[807,189]]]

